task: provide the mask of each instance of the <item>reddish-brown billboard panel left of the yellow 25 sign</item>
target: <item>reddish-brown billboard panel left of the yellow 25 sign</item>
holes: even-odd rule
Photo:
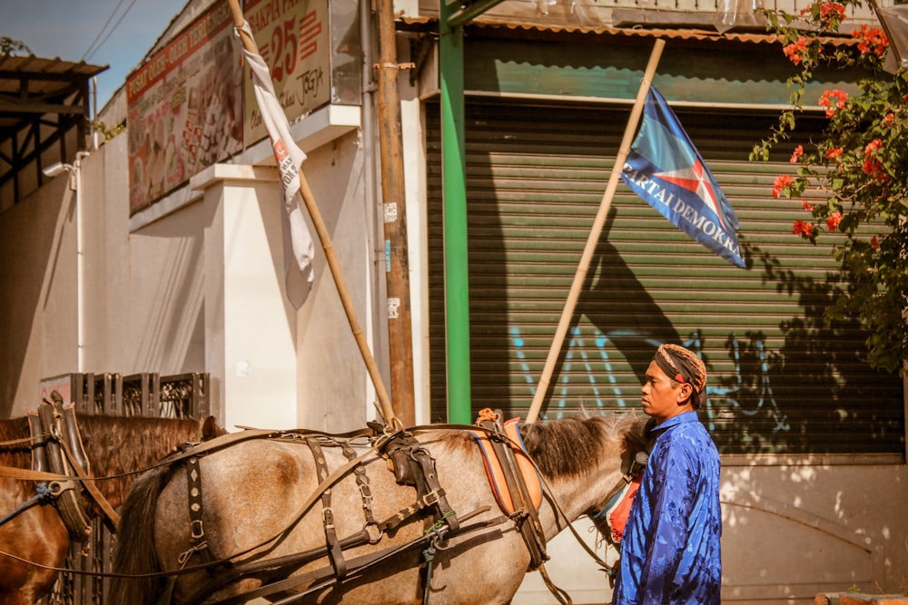
[[[130,73],[130,215],[242,149],[241,91],[241,54],[227,0]]]

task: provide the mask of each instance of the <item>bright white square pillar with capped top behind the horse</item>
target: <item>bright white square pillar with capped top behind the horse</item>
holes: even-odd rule
[[[262,175],[266,181],[255,178]],[[199,176],[208,219],[198,280],[204,359],[221,385],[219,418],[228,430],[292,428],[296,309],[283,290],[277,171],[217,165]]]

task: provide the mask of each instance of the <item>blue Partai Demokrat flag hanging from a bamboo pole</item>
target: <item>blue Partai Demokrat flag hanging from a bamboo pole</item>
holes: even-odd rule
[[[621,180],[678,229],[745,267],[735,237],[735,210],[655,86],[646,97],[643,123]]]

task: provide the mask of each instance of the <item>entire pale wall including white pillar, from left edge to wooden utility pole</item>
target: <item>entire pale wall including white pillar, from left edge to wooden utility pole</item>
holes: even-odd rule
[[[371,193],[358,132],[331,136],[307,150],[304,171],[371,338]],[[73,179],[59,176],[0,215],[0,413],[34,409],[38,383],[50,376],[208,372],[212,413],[228,428],[342,432],[375,417],[314,229],[309,300],[297,310],[282,289],[281,190],[276,169],[264,165],[273,163],[267,141],[131,218],[125,139],[81,159]]]

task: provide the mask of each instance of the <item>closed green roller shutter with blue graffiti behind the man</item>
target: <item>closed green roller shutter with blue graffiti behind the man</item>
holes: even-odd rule
[[[866,366],[860,329],[823,322],[844,287],[834,238],[814,247],[792,235],[792,222],[809,214],[771,195],[776,175],[791,171],[785,151],[772,163],[747,161],[775,116],[677,113],[735,208],[748,268],[689,239],[620,185],[542,417],[638,409],[657,344],[676,342],[706,362],[701,417],[723,453],[901,455],[902,380]],[[433,420],[444,420],[438,115],[430,103],[430,379]],[[526,414],[627,116],[626,108],[468,102],[474,412]]]

